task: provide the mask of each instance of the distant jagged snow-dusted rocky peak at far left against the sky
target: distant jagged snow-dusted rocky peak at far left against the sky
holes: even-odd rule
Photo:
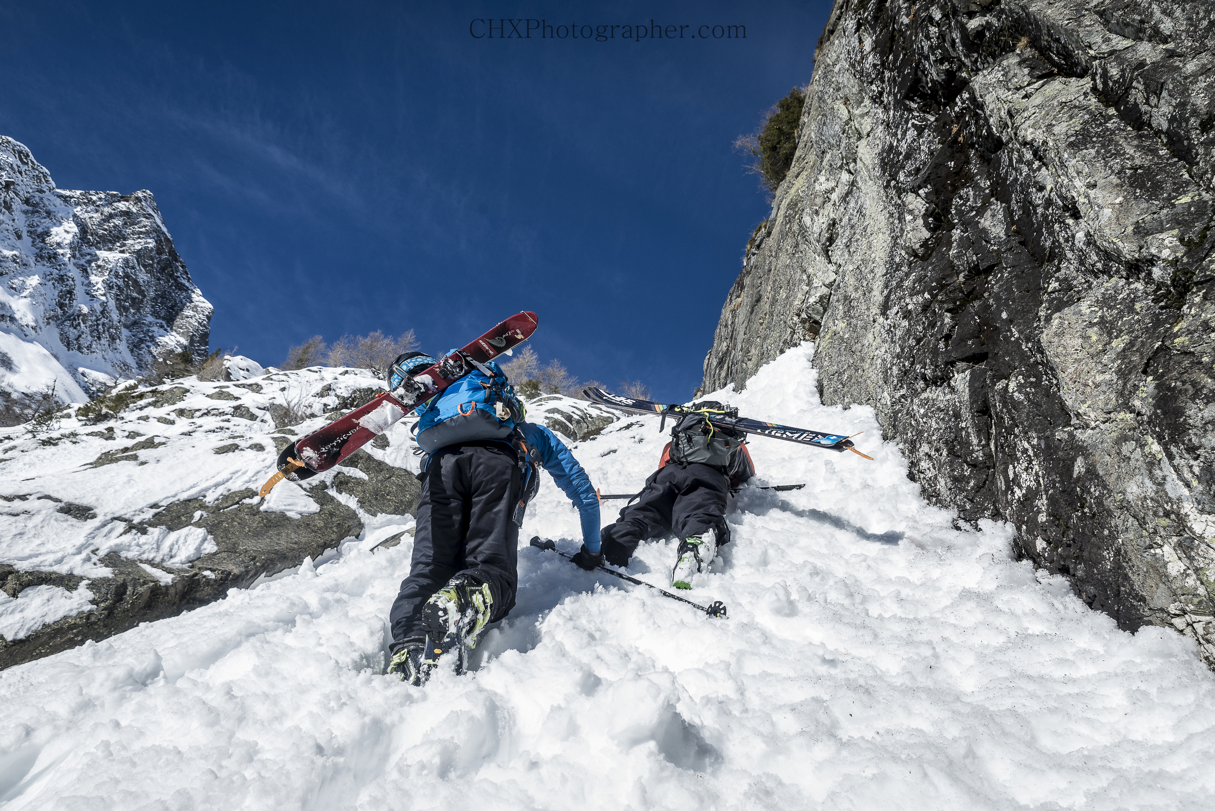
[[[57,189],[0,136],[0,389],[86,399],[157,357],[205,353],[211,312],[151,192]]]

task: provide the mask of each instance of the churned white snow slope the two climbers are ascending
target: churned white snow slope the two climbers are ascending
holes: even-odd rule
[[[751,446],[734,543],[690,592],[725,620],[521,549],[513,616],[475,673],[380,675],[409,539],[0,673],[4,809],[1205,809],[1215,676],[1192,640],[1119,631],[1061,578],[956,531],[866,408],[818,404],[808,347],[765,367],[746,414],[865,431],[833,454]],[[575,447],[637,488],[654,418]],[[605,511],[605,518],[610,512]],[[573,549],[549,482],[531,534]],[[669,543],[631,571],[663,583]]]

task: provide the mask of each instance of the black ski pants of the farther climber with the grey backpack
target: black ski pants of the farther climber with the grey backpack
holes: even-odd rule
[[[615,566],[627,566],[643,540],[668,534],[690,538],[710,528],[717,531],[718,545],[729,543],[729,494],[730,482],[717,467],[663,465],[645,480],[637,501],[620,511],[620,520],[599,533],[604,557]]]

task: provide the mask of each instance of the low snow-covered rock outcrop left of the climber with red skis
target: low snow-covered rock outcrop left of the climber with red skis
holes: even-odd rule
[[[324,368],[128,381],[52,430],[0,430],[0,668],[203,605],[411,515],[406,422],[258,497],[293,436],[380,390],[367,372]]]

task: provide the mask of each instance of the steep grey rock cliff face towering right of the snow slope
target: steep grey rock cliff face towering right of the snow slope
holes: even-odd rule
[[[838,0],[705,389],[815,341],[962,520],[1215,667],[1215,4]]]

